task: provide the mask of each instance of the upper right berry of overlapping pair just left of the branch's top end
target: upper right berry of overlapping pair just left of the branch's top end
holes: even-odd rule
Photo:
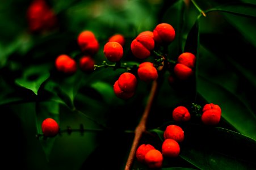
[[[137,78],[132,73],[123,73],[119,76],[118,85],[122,91],[133,92],[137,86]]]

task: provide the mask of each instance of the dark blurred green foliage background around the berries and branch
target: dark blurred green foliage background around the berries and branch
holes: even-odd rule
[[[135,96],[122,100],[112,86],[125,70],[102,68],[87,74],[78,69],[64,76],[54,61],[68,54],[78,62],[77,36],[90,30],[100,43],[93,56],[96,65],[106,60],[103,46],[115,33],[125,37],[121,62],[139,65],[142,60],[132,56],[131,41],[169,23],[176,37],[167,58],[195,53],[196,77],[175,86],[168,82],[173,73],[166,71],[147,124],[155,135],[145,134],[140,143],[160,149],[165,127],[177,124],[173,109],[184,105],[192,118],[178,124],[185,134],[181,154],[165,159],[162,169],[256,169],[255,1],[47,0],[57,26],[42,32],[29,29],[31,2],[0,1],[2,167],[124,169],[152,84],[139,81]],[[220,105],[220,124],[205,127],[192,103]],[[63,132],[36,138],[47,117]],[[135,160],[132,169],[148,168]]]

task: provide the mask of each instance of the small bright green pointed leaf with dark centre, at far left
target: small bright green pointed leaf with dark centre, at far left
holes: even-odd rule
[[[31,66],[24,71],[22,78],[15,79],[15,83],[32,90],[37,95],[41,84],[50,76],[45,68],[45,66]]]

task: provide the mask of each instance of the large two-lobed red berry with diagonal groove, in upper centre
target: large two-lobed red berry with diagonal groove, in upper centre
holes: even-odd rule
[[[132,54],[139,59],[146,59],[154,49],[154,39],[149,35],[138,35],[131,43]]]

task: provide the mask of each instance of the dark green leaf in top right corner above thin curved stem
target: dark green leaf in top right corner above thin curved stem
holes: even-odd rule
[[[256,5],[250,3],[227,3],[225,5],[211,8],[210,10],[205,11],[205,13],[213,11],[228,12],[234,15],[256,18]]]

